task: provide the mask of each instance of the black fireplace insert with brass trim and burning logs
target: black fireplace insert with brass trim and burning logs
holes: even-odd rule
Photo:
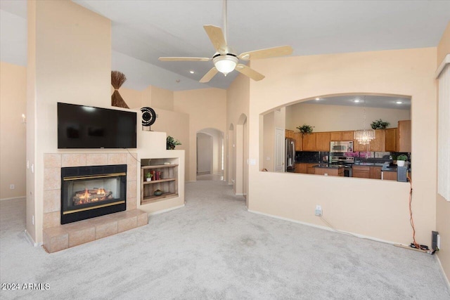
[[[61,168],[61,224],[126,209],[126,164]]]

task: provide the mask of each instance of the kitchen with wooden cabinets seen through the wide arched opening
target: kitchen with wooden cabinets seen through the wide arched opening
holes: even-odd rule
[[[314,98],[285,107],[285,171],[406,182],[411,177],[410,107],[411,99],[404,96],[367,95]],[[375,138],[361,145],[354,131],[369,129],[374,119],[390,126],[375,130]],[[300,124],[314,125],[313,132],[301,133]],[[407,160],[406,167],[397,167],[397,157]]]

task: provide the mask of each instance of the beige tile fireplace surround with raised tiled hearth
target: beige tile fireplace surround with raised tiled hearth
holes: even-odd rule
[[[131,156],[133,155],[133,156]],[[136,153],[44,154],[44,248],[57,252],[101,237],[148,224],[148,214],[136,209]],[[127,210],[60,225],[61,168],[127,164]]]

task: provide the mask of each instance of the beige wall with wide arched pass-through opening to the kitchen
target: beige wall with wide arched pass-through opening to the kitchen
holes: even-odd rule
[[[412,96],[413,210],[416,239],[430,244],[436,202],[436,48],[255,60],[266,75],[250,81],[250,159],[259,161],[259,114],[316,95],[387,93]],[[276,70],[276,71],[274,71]],[[409,244],[409,184],[364,178],[260,172],[250,166],[249,209]],[[276,183],[276,188],[274,188]],[[326,188],[324,188],[326,187]]]

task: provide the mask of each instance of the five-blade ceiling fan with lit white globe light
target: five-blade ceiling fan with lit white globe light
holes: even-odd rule
[[[214,63],[214,67],[209,70],[200,82],[208,82],[214,77],[217,72],[221,72],[226,76],[229,72],[236,70],[253,80],[259,81],[264,79],[264,75],[256,72],[250,67],[238,63],[239,60],[256,60],[261,58],[273,58],[276,56],[288,56],[293,53],[293,48],[291,46],[279,46],[274,48],[266,48],[261,50],[249,51],[236,55],[233,50],[226,44],[226,0],[224,0],[224,32],[222,32],[220,27],[213,25],[204,25],[206,34],[212,42],[212,46],[216,49],[216,53],[212,58],[191,58],[191,57],[160,57],[161,61],[210,61]]]

